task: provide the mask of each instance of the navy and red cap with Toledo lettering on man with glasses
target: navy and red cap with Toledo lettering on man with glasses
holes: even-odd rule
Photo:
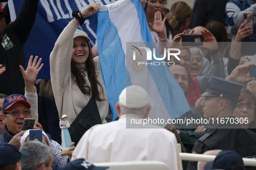
[[[25,96],[21,94],[12,94],[3,100],[2,111],[9,109],[14,103],[23,103],[29,108],[31,107]]]

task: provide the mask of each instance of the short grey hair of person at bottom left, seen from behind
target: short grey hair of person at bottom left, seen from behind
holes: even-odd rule
[[[52,160],[53,149],[40,141],[25,142],[19,151],[25,151],[30,154],[29,157],[21,158],[22,170],[38,170],[42,164],[49,167],[49,163]]]

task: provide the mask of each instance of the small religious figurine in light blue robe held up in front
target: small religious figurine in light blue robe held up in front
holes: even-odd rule
[[[71,154],[71,151],[68,151],[68,149],[72,147],[72,141],[68,132],[69,123],[67,119],[67,115],[62,115],[62,118],[59,122],[60,128],[62,129],[62,156],[66,154]]]

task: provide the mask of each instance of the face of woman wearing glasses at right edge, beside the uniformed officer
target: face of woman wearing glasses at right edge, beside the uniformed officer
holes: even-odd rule
[[[236,109],[234,109],[233,114],[237,118],[244,119],[243,122],[247,122],[245,120],[248,120],[248,123],[241,124],[242,126],[248,128],[249,124],[253,121],[254,119],[254,103],[253,101],[248,101],[247,99],[244,99],[240,102],[237,103]],[[241,121],[240,121],[241,122]]]

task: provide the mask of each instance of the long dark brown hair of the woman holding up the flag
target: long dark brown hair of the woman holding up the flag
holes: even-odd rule
[[[100,85],[100,82],[97,80],[97,75],[99,73],[95,72],[95,65],[93,61],[93,56],[91,54],[91,49],[90,45],[87,42],[88,48],[89,48],[89,55],[87,60],[85,61],[86,64],[86,71],[88,75],[88,79],[91,83],[91,87],[88,86],[86,80],[85,80],[85,74],[84,74],[84,69],[83,68],[77,68],[75,66],[75,62],[73,59],[71,59],[71,77],[74,80],[74,83],[76,82],[79,89],[81,90],[82,93],[85,95],[92,95],[94,99],[98,101],[104,101],[105,99],[100,98],[100,90],[98,89],[98,86],[101,88],[101,93],[103,93],[103,88]]]

